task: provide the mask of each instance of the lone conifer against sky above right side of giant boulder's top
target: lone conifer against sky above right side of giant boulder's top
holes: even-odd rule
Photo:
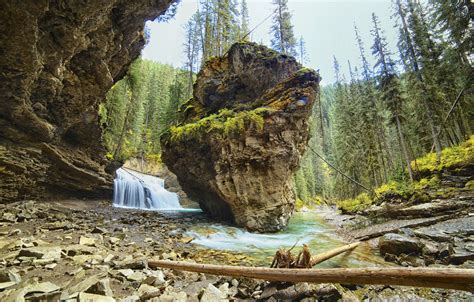
[[[271,27],[272,48],[291,56],[296,56],[296,39],[291,25],[291,13],[288,9],[288,0],[273,0],[275,11]]]

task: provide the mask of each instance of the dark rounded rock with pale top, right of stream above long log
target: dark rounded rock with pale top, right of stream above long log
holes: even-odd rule
[[[402,253],[418,255],[421,253],[422,244],[411,237],[389,233],[380,238],[379,249],[382,255],[392,254],[398,256]]]

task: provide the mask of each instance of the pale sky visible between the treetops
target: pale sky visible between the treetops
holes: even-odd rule
[[[182,0],[176,16],[167,23],[147,23],[151,39],[144,48],[145,59],[171,64],[184,65],[183,43],[184,24],[197,10],[198,0]],[[271,14],[271,0],[247,0],[250,28],[255,27]],[[319,70],[322,84],[334,82],[333,56],[339,61],[343,73],[348,77],[347,60],[352,66],[360,65],[359,50],[354,35],[354,23],[362,36],[366,56],[373,64],[370,46],[373,39],[372,13],[380,19],[391,50],[396,53],[397,30],[395,21],[390,18],[390,0],[288,0],[292,13],[295,36],[303,36],[309,59],[305,65]],[[251,35],[252,41],[270,45],[271,18],[260,25]]]

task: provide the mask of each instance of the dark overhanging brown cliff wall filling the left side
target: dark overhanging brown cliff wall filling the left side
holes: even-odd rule
[[[0,202],[110,193],[98,104],[171,2],[1,1]]]

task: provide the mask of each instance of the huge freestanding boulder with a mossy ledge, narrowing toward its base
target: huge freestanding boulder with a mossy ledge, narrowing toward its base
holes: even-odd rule
[[[294,210],[292,174],[309,139],[319,76],[292,57],[234,44],[207,62],[162,159],[189,197],[216,218],[277,231]]]

